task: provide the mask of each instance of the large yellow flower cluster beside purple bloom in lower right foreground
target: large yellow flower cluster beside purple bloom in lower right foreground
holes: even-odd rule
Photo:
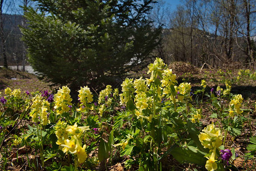
[[[223,138],[220,128],[216,128],[214,124],[210,124],[202,130],[198,137],[204,148],[209,148],[210,152],[212,152],[210,158],[207,157],[208,160],[206,161],[205,168],[209,171],[216,170],[216,149],[221,146]]]

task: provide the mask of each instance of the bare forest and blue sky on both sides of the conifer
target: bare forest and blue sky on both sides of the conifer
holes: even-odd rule
[[[17,4],[36,7],[35,2],[27,0],[1,0],[1,65],[5,58],[9,65],[25,60],[26,47],[18,26],[24,26],[26,19]],[[213,67],[231,62],[254,65],[255,4],[254,0],[185,0],[170,11],[171,4],[157,1],[148,14],[152,29],[162,27],[161,43],[153,55],[167,64],[182,61],[200,67],[204,63]]]

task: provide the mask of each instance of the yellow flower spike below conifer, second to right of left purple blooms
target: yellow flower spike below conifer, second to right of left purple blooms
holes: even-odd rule
[[[79,92],[79,99],[80,100],[80,108],[76,109],[76,111],[88,111],[89,109],[93,109],[92,105],[88,105],[89,103],[92,103],[94,99],[92,99],[93,95],[92,92],[90,91],[90,88],[86,87],[81,87]]]

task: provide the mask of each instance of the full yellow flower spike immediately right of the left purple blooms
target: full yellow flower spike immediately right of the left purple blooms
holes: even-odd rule
[[[54,96],[55,105],[57,115],[62,115],[63,112],[68,112],[70,108],[68,105],[72,105],[70,89],[67,86],[63,86],[59,88],[58,92]]]

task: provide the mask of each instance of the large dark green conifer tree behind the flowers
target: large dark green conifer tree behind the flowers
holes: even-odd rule
[[[37,2],[21,30],[29,62],[44,80],[97,89],[146,66],[159,43],[161,28],[148,19],[152,0]]]

